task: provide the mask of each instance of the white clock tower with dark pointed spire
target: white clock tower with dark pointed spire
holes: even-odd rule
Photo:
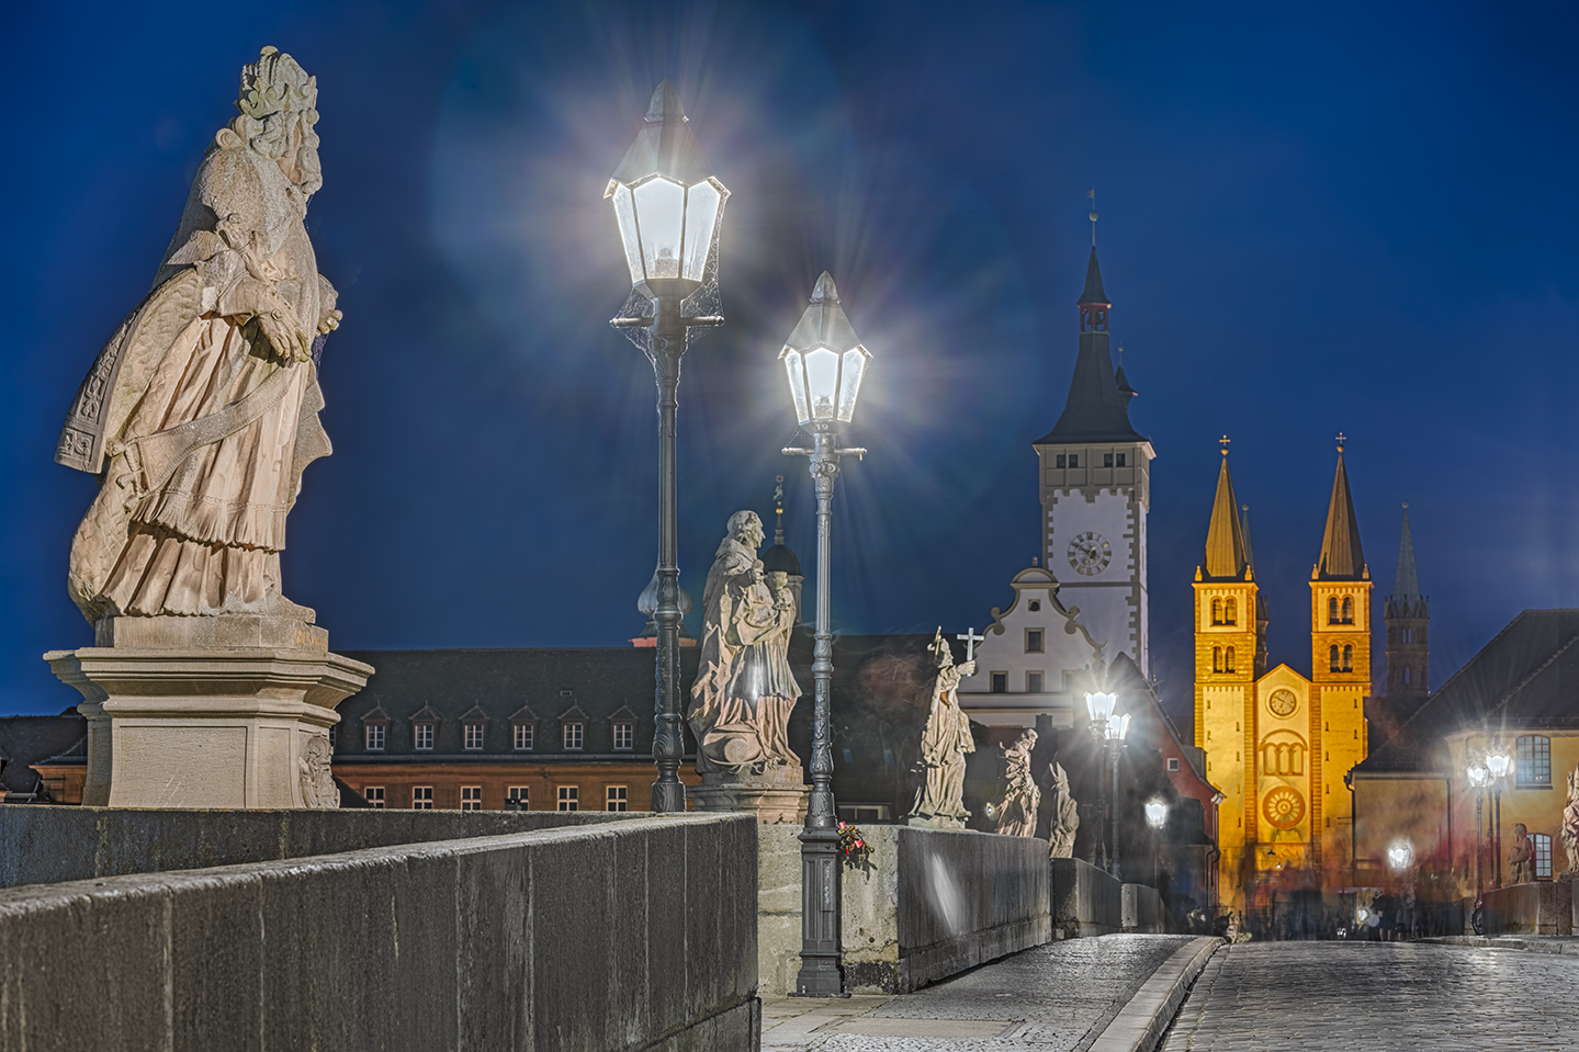
[[[1042,551],[1060,581],[1060,599],[1078,608],[1080,622],[1104,644],[1104,657],[1129,654],[1150,674],[1146,512],[1156,453],[1151,439],[1129,423],[1135,390],[1108,352],[1113,305],[1102,289],[1094,242],[1093,235],[1077,303],[1080,343],[1069,400],[1053,430],[1034,442]]]

